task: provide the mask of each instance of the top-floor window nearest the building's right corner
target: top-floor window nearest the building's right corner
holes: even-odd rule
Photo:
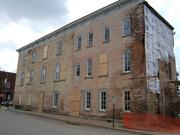
[[[131,35],[131,22],[130,18],[127,18],[123,21],[123,36]]]

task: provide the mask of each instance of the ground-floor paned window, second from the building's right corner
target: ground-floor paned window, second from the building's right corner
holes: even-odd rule
[[[106,111],[106,101],[107,101],[107,93],[106,91],[101,91],[100,92],[100,111]]]

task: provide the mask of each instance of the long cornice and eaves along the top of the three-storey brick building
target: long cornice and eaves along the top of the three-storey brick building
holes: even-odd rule
[[[45,36],[43,36],[43,37],[41,37],[41,38],[39,38],[39,39],[37,39],[37,40],[35,40],[35,41],[33,41],[32,43],[30,43],[30,44],[28,44],[28,45],[26,45],[26,46],[18,49],[17,52],[20,52],[20,51],[23,51],[23,50],[25,50],[25,49],[28,49],[28,48],[34,46],[35,44],[38,44],[39,42],[41,42],[41,41],[43,41],[43,40],[46,40],[46,39],[48,39],[48,38],[50,38],[50,37],[52,37],[52,36],[54,36],[54,35],[57,35],[57,34],[65,31],[65,30],[67,30],[67,29],[69,29],[69,28],[72,28],[72,27],[78,25],[78,24],[81,23],[81,22],[84,22],[84,21],[86,21],[86,20],[88,20],[88,19],[90,19],[90,18],[99,16],[99,15],[101,15],[101,14],[107,12],[107,11],[110,11],[110,10],[114,9],[115,7],[124,6],[125,4],[130,3],[130,2],[139,2],[139,4],[145,4],[145,5],[146,5],[157,17],[159,17],[159,19],[161,19],[170,29],[174,30],[174,28],[172,27],[172,25],[170,25],[156,10],[155,10],[154,8],[152,8],[145,0],[118,0],[118,1],[116,1],[116,2],[114,2],[114,3],[112,3],[112,4],[110,4],[110,5],[107,5],[107,6],[101,8],[101,9],[95,11],[95,12],[92,12],[92,13],[90,13],[90,14],[88,14],[88,15],[80,18],[80,19],[77,19],[77,20],[75,20],[75,21],[73,21],[73,22],[71,22],[71,23],[69,23],[69,24],[67,24],[67,25],[65,25],[65,26],[63,26],[63,27],[61,27],[61,28],[59,28],[59,29],[57,29],[57,30],[55,30],[55,31],[53,31],[53,32],[51,32],[51,33],[49,33],[49,34],[47,34],[47,35],[45,35]]]

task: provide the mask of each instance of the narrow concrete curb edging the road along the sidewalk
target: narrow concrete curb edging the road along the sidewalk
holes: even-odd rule
[[[30,115],[30,116],[36,116],[36,117],[41,117],[41,118],[46,118],[46,119],[51,119],[51,120],[62,121],[62,122],[66,122],[67,124],[77,125],[77,126],[86,125],[86,126],[92,126],[92,127],[98,127],[98,128],[104,128],[104,129],[110,129],[110,130],[116,130],[116,131],[129,132],[129,133],[134,133],[134,134],[139,134],[139,135],[158,135],[156,132],[126,129],[123,127],[120,127],[120,128],[114,127],[113,128],[113,127],[99,125],[99,124],[90,123],[90,122],[88,123],[88,122],[73,121],[73,119],[66,120],[66,119],[59,118],[59,117],[56,118],[56,117],[54,117],[55,116],[54,114],[36,113],[36,112],[21,111],[21,110],[15,110],[15,109],[13,109],[13,110],[11,109],[11,111],[17,112],[17,113],[23,113],[23,114]],[[75,118],[76,117],[74,117],[74,119]]]

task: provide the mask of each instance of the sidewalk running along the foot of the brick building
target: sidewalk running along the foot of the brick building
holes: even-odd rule
[[[142,130],[126,129],[123,127],[123,124],[120,122],[115,122],[115,127],[112,127],[112,122],[107,122],[105,120],[100,120],[100,119],[73,117],[73,116],[57,115],[57,114],[50,114],[50,113],[34,112],[34,111],[32,112],[22,111],[22,110],[16,110],[14,108],[11,108],[10,110],[13,112],[23,113],[27,115],[64,121],[66,123],[73,124],[73,125],[89,125],[89,126],[94,126],[94,127],[99,127],[99,128],[120,130],[124,132],[140,134],[140,135],[175,135],[175,134],[156,133],[156,132],[148,132],[148,131],[142,131]]]

